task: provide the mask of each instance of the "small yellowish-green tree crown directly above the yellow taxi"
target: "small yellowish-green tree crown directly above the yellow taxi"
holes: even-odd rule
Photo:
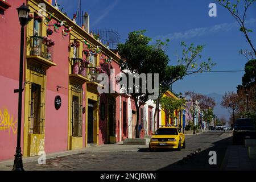
[[[181,109],[181,107],[185,104],[184,99],[176,100],[173,97],[164,96],[160,98],[159,103],[161,108],[165,111],[168,118],[174,119],[175,118],[175,110]]]

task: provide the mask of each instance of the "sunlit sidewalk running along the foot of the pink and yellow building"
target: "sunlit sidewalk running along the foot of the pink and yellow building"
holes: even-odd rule
[[[122,143],[115,143],[115,144],[103,144],[100,146],[97,145],[88,145],[86,148],[81,148],[79,150],[68,150],[68,151],[61,151],[52,154],[46,154],[46,159],[52,158],[60,158],[67,155],[74,155],[74,154],[84,154],[84,153],[94,153],[94,152],[120,152],[120,151],[138,151],[139,148],[147,148],[147,145],[134,145],[134,146],[127,146],[123,145]],[[39,156],[32,156],[23,158],[23,163],[29,162],[36,162],[38,161]],[[0,171],[10,171],[13,168],[13,161],[14,159],[10,160],[3,160],[0,162]]]

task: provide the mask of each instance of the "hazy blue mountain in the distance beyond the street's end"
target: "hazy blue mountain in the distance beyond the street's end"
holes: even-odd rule
[[[216,102],[216,106],[214,107],[214,114],[217,115],[218,118],[226,118],[226,121],[229,120],[230,113],[228,109],[225,109],[224,107],[221,106],[221,101],[222,101],[222,95],[217,94],[217,93],[210,93],[207,94],[207,96],[214,98]]]

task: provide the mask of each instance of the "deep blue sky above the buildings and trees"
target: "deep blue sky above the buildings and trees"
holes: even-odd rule
[[[72,2],[72,3],[71,3]],[[82,10],[89,13],[90,28],[112,28],[125,41],[134,30],[147,30],[151,38],[170,38],[167,49],[170,64],[176,64],[176,52],[181,51],[180,42],[195,45],[205,44],[203,58],[211,57],[217,65],[215,71],[243,70],[245,57],[240,49],[250,49],[239,31],[236,20],[223,7],[217,5],[217,17],[209,17],[208,5],[213,0],[170,1],[170,0],[81,0]],[[57,0],[63,11],[72,18],[78,0]],[[256,3],[247,14],[247,27],[256,31]],[[255,32],[250,35],[256,45]],[[241,84],[243,72],[200,73],[175,82],[175,92],[193,90],[197,93],[224,94],[236,91]]]

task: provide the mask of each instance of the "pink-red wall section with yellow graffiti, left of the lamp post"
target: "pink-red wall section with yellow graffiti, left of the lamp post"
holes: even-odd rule
[[[15,121],[18,119],[18,93],[14,93],[14,89],[18,89],[19,86],[20,55],[20,24],[16,8],[23,2],[26,1],[8,1],[11,7],[5,11],[4,15],[0,14],[0,110],[2,111],[0,115],[0,160],[14,158],[15,154],[17,135],[14,134],[13,129],[16,130],[17,127]],[[9,122],[13,119],[12,125],[6,123],[8,117],[10,117]],[[21,146],[23,145],[23,121],[22,117]]]

